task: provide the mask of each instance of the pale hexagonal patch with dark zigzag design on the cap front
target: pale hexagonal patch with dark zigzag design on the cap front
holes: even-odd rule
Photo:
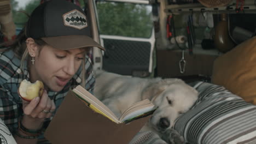
[[[82,29],[87,27],[86,16],[79,10],[72,10],[66,14],[63,14],[64,25],[68,27],[73,27],[77,29]]]

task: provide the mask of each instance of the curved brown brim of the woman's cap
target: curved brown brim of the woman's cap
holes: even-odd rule
[[[104,47],[96,43],[96,41],[94,41],[87,35],[65,35],[60,37],[47,37],[42,39],[50,46],[61,50],[78,49],[84,47],[98,47],[103,51],[105,50]]]

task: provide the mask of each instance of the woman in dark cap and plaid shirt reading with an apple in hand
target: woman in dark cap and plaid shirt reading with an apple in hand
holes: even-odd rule
[[[0,53],[0,117],[17,143],[43,140],[69,88],[83,85],[92,92],[95,80],[85,56],[92,46],[104,50],[90,38],[83,10],[67,1],[49,1],[32,12],[16,42]],[[42,97],[22,100],[17,91],[24,79],[42,81]]]

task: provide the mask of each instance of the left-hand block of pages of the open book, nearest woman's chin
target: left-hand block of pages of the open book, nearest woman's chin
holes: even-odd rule
[[[99,113],[104,113],[104,116],[107,116],[110,118],[110,120],[120,123],[117,116],[114,115],[114,113],[106,106],[104,105],[100,100],[98,100],[94,95],[92,95],[90,92],[86,91],[82,86],[77,86],[73,89],[73,92],[77,93],[80,97],[82,97],[85,101],[88,101],[91,105],[93,105],[95,108],[97,108]],[[97,112],[96,110],[96,112]]]

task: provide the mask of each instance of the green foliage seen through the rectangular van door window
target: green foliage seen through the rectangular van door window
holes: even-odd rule
[[[153,20],[148,5],[98,2],[100,34],[149,38]]]

